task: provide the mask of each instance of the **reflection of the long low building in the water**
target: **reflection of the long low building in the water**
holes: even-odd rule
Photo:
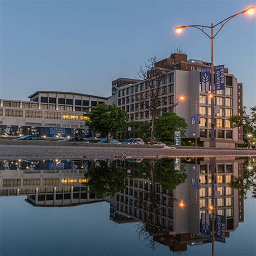
[[[2,161],[0,196],[27,196],[33,206],[75,206],[103,201],[90,193],[90,161]]]

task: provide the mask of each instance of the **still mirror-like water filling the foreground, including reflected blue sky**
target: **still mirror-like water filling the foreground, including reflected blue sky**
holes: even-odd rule
[[[0,255],[255,255],[254,158],[0,161]],[[215,173],[215,175],[212,175]]]

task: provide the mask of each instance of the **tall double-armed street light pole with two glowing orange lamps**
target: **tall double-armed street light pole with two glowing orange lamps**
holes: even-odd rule
[[[233,19],[234,17],[240,15],[240,14],[248,14],[248,15],[253,15],[255,12],[256,7],[252,6],[250,8],[247,8],[246,10],[239,12],[238,14],[234,14],[226,19],[223,19],[223,21],[217,23],[217,24],[211,24],[211,26],[204,26],[204,25],[187,25],[187,26],[177,26],[177,28],[175,28],[177,33],[181,33],[181,31],[185,28],[196,28],[199,29],[201,32],[203,32],[208,38],[211,39],[211,93],[212,95],[214,95],[215,90],[214,90],[214,62],[213,62],[213,39],[218,35],[218,33],[220,32],[220,30],[227,24],[227,22],[231,21],[231,19]],[[218,29],[218,31],[215,33],[214,35],[214,28],[219,26],[220,28]],[[206,33],[204,31],[204,29],[211,29],[211,35],[208,35],[208,33]],[[216,146],[216,137],[215,137],[215,113],[214,113],[214,97],[212,97],[211,99],[211,119],[212,119],[212,131],[211,131],[211,138],[210,138],[210,147],[215,147]]]

